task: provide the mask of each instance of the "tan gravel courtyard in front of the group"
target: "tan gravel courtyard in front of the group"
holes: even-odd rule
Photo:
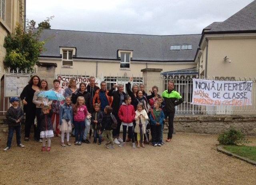
[[[61,147],[60,138],[55,137],[50,152],[41,152],[41,144],[34,141],[17,148],[15,138],[12,148],[4,152],[6,138],[0,141],[2,185],[256,184],[256,167],[217,152],[216,135],[177,133],[161,147],[126,145],[114,150],[104,144]],[[255,146],[256,137],[249,139]]]

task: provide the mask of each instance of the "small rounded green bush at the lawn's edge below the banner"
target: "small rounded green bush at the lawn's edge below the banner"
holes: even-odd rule
[[[232,127],[218,136],[218,142],[223,145],[237,145],[245,144],[248,141],[241,131]]]

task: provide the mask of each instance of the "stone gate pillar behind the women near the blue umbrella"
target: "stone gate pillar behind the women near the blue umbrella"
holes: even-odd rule
[[[55,69],[57,68],[56,63],[38,62],[37,75],[40,79],[44,79],[48,82],[49,89],[53,88],[53,80],[55,79]]]

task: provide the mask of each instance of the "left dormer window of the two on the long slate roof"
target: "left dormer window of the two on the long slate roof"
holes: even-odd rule
[[[62,67],[73,67],[73,55],[75,55],[76,48],[61,47]]]

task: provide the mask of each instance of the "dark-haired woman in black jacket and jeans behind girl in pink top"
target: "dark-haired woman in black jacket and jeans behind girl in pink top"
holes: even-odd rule
[[[76,99],[78,96],[83,96],[85,100],[85,105],[90,114],[92,114],[93,111],[93,106],[92,106],[92,96],[90,93],[86,91],[86,84],[84,82],[80,83],[80,87],[76,93],[72,94],[71,100],[73,104],[76,104]],[[90,119],[86,118],[85,119],[85,128],[84,128],[84,135],[83,135],[83,140],[86,143],[90,143],[90,140],[87,139],[87,134],[90,129]]]

